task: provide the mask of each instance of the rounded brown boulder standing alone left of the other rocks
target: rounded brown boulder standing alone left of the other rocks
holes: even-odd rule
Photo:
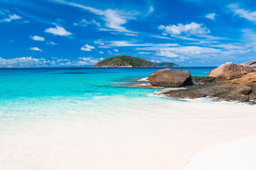
[[[184,87],[191,86],[193,82],[189,71],[163,69],[148,76],[148,82],[152,86],[159,87]]]

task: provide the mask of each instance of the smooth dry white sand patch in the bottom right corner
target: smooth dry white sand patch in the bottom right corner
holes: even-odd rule
[[[183,170],[255,170],[256,135],[204,149]]]

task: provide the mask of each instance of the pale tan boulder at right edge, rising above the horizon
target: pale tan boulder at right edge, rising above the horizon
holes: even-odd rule
[[[243,64],[226,63],[211,71],[210,77],[230,78],[237,75],[249,74],[256,72],[256,60]]]

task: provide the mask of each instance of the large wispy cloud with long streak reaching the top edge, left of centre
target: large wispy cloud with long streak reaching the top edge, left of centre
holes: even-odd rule
[[[85,6],[82,4],[77,3],[70,3],[63,0],[54,0],[57,3],[62,3],[70,6],[76,6],[79,8],[82,8],[84,10],[90,11],[91,13],[94,13],[96,15],[103,16],[103,20],[105,21],[105,26],[107,28],[110,28],[111,31],[118,31],[118,32],[133,32],[130,30],[127,30],[125,27],[122,27],[123,24],[127,23],[128,20],[135,20],[135,15],[138,15],[139,13],[136,11],[127,12],[124,10],[98,10],[97,8]],[[108,29],[100,29],[102,31],[110,31]],[[134,33],[134,32],[133,32]]]

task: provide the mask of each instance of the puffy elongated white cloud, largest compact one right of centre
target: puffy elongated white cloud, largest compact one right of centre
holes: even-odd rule
[[[198,24],[195,22],[191,22],[190,24],[183,25],[179,23],[177,25],[160,25],[158,29],[164,30],[164,32],[169,33],[171,36],[178,36],[181,33],[186,33],[188,35],[205,35],[206,33],[210,33],[206,27],[201,27],[203,24]]]

